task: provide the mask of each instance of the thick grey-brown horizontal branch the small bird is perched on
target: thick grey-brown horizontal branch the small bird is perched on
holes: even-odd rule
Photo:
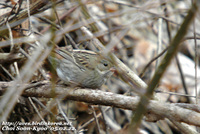
[[[12,82],[0,82],[0,93],[2,94],[9,86],[12,86]],[[55,89],[52,89],[51,83],[47,81],[24,86],[25,90],[22,95],[28,97],[53,98],[57,96],[59,98],[64,95],[64,97],[69,100],[83,101],[95,105],[112,106],[134,111],[139,102],[139,97],[125,96],[101,90],[74,89],[63,85],[56,85]],[[147,107],[147,113],[146,117],[149,116],[149,114],[150,117],[151,115],[156,117],[153,121],[168,118],[177,122],[200,126],[200,113],[182,108],[177,106],[177,104],[150,100],[149,106]]]

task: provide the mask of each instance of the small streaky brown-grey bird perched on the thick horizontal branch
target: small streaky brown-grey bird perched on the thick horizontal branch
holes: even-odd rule
[[[69,86],[97,89],[114,73],[108,58],[90,50],[55,49],[48,60],[58,77]]]

